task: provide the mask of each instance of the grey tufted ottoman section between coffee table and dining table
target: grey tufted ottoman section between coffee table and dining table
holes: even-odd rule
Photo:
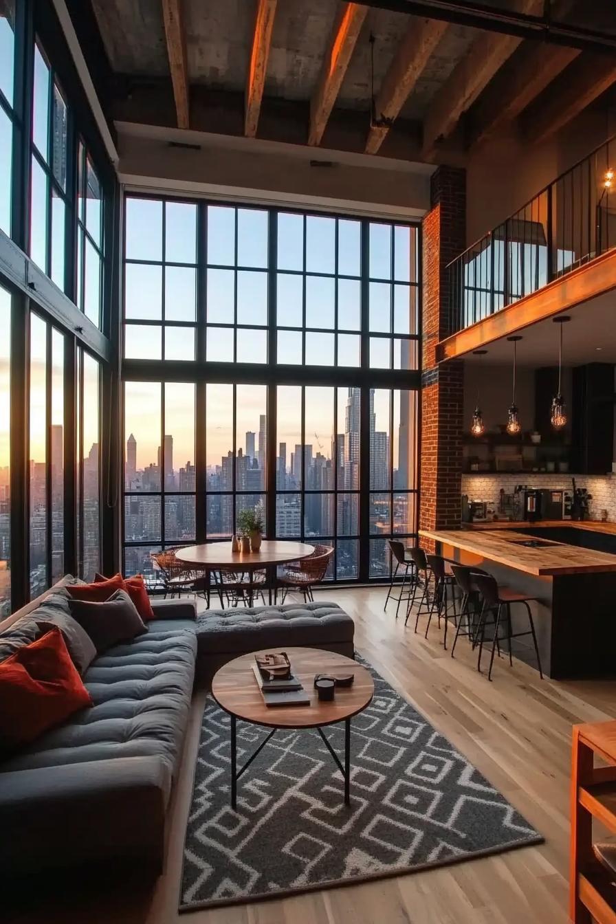
[[[197,616],[197,676],[211,682],[219,667],[264,648],[322,648],[353,658],[355,624],[337,603],[285,603]]]

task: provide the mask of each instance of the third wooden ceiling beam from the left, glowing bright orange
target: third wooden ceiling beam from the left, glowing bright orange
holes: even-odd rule
[[[308,144],[320,144],[367,15],[368,6],[362,4],[342,3],[338,8],[319,82],[310,101]]]

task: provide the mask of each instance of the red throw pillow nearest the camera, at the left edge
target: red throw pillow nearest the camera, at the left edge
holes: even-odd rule
[[[0,663],[2,749],[29,744],[73,712],[91,706],[57,626]]]

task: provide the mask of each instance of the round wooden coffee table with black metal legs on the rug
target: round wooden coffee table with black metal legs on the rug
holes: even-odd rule
[[[351,719],[366,709],[374,696],[374,683],[365,667],[343,654],[316,648],[287,648],[291,669],[310,696],[307,706],[266,706],[252,666],[256,654],[274,649],[243,654],[224,664],[211,682],[211,695],[231,716],[231,805],[236,808],[237,780],[264,748],[279,728],[316,728],[344,777],[344,802],[350,801],[351,780]],[[277,649],[280,650],[280,649]],[[354,674],[352,687],[336,687],[334,699],[323,702],[314,688],[315,674]],[[237,770],[236,722],[265,725],[272,731],[259,748]],[[323,735],[322,728],[344,722],[344,765]]]

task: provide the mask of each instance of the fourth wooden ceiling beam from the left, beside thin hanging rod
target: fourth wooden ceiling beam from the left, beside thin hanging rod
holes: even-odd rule
[[[447,23],[438,19],[411,19],[383,78],[375,103],[377,119],[394,119],[398,115],[447,28]],[[366,141],[367,154],[379,151],[388,131],[387,126],[370,128]]]

